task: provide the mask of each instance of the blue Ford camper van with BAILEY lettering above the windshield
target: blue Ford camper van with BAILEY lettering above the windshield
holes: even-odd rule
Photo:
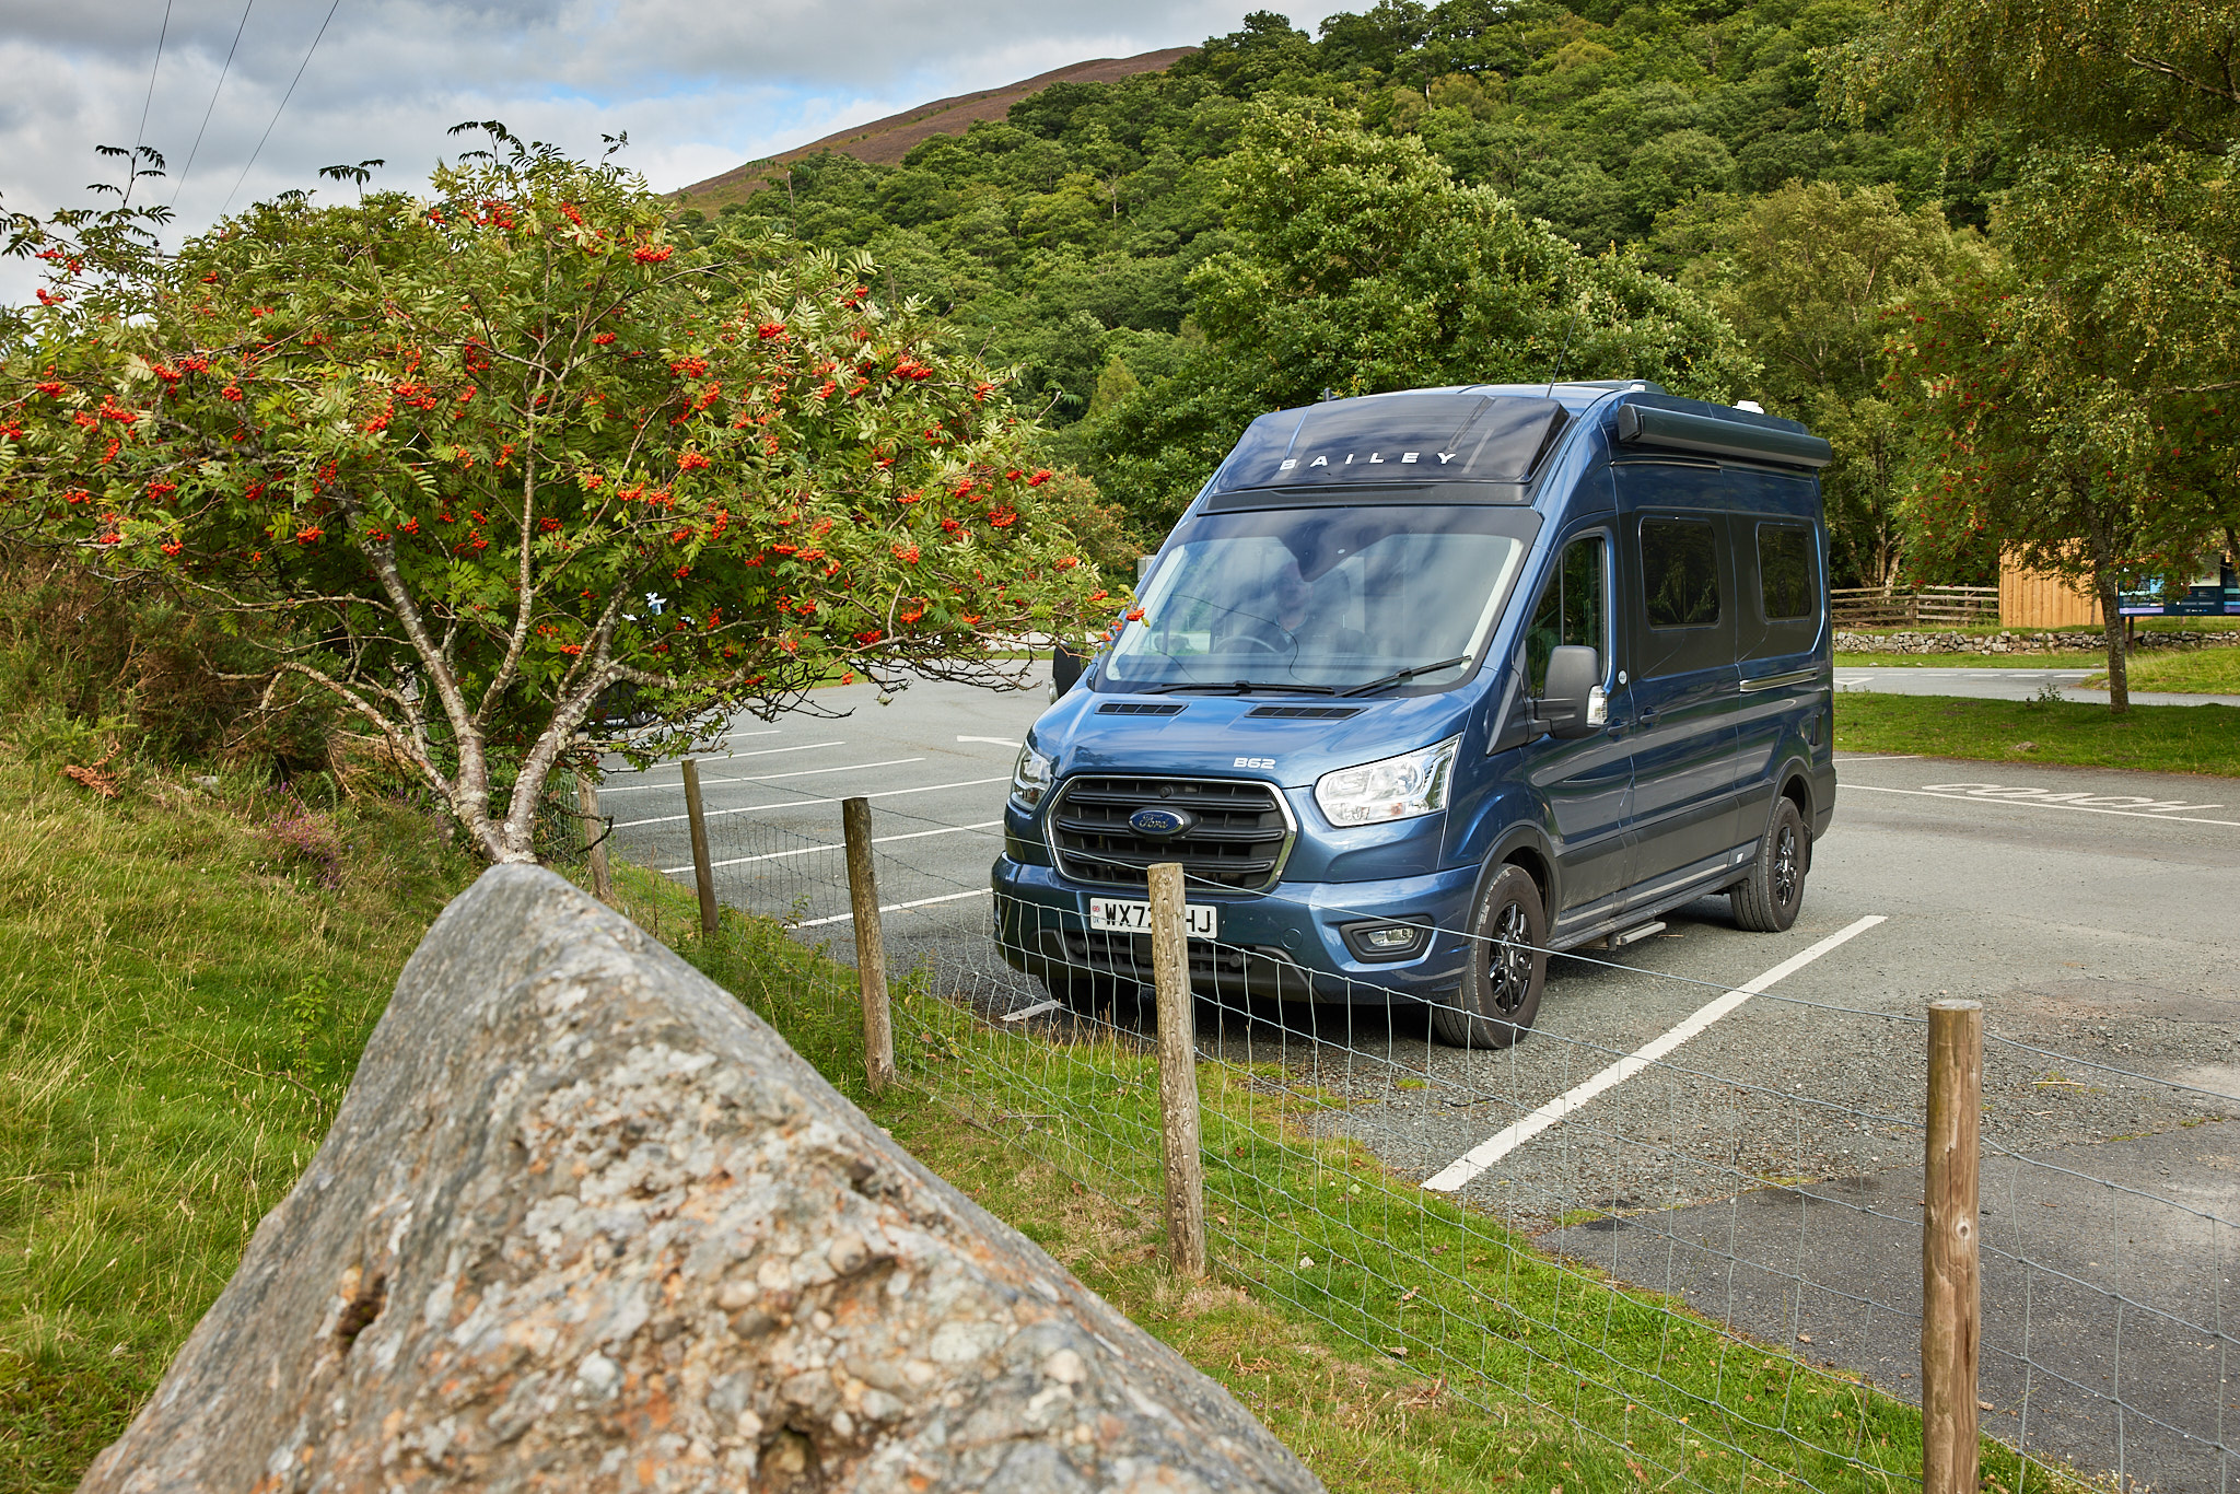
[[[1201,992],[1508,1046],[1550,950],[1707,894],[1790,927],[1835,813],[1828,457],[1653,383],[1252,421],[1028,732],[1006,956],[1136,995],[1145,869],[1180,862]]]

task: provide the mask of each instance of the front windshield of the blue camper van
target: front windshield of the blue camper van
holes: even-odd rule
[[[1160,553],[1100,688],[1324,694],[1411,670],[1391,688],[1447,688],[1485,647],[1537,526],[1460,504],[1201,515]]]

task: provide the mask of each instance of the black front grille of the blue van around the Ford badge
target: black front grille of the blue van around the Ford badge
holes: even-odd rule
[[[1196,815],[1180,835],[1138,835],[1138,809]],[[1225,777],[1068,777],[1051,809],[1057,869],[1075,883],[1145,887],[1154,862],[1180,862],[1196,885],[1252,891],[1275,883],[1290,847],[1284,800],[1268,784]]]

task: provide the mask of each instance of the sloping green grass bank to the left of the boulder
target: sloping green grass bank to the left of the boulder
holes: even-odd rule
[[[0,1490],[69,1490],[311,1158],[466,867],[403,809],[0,753]],[[332,885],[329,885],[332,883]]]

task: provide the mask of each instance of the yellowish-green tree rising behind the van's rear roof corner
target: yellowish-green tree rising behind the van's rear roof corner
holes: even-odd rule
[[[1897,193],[1790,181],[1714,228],[1718,251],[1691,269],[1765,365],[1767,410],[1835,443],[1821,475],[1835,569],[1888,587],[1902,560],[1900,475],[1906,428],[1884,387],[1893,307],[1982,269],[1933,204]]]

